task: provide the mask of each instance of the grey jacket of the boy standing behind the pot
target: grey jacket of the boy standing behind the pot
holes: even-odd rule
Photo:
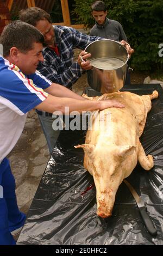
[[[106,39],[112,39],[115,41],[127,41],[126,34],[123,31],[122,25],[118,21],[109,20],[106,18],[106,21],[103,26],[99,26],[96,22],[90,30],[90,35],[100,36]]]

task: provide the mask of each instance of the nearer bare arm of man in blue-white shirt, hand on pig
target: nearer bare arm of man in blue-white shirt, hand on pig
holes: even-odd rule
[[[124,105],[116,100],[102,100],[102,101],[91,101],[91,100],[78,100],[68,97],[55,97],[48,95],[47,99],[37,105],[35,108],[53,113],[54,111],[60,111],[65,113],[65,107],[69,108],[69,113],[72,111],[94,111],[96,109],[103,110],[109,107],[124,107]],[[67,113],[66,113],[67,114]]]

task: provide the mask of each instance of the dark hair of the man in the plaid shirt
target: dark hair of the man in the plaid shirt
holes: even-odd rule
[[[47,20],[49,23],[52,23],[51,16],[39,7],[30,7],[20,10],[19,19],[33,26],[36,26],[37,21],[40,20]]]

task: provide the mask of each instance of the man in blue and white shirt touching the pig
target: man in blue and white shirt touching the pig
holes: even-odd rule
[[[0,37],[0,245],[15,245],[11,233],[21,228],[26,218],[18,210],[15,179],[7,155],[21,136],[28,111],[37,108],[64,113],[68,107],[70,112],[82,113],[124,107],[115,100],[86,100],[36,72],[39,62],[43,62],[43,41],[38,29],[22,21],[10,23]]]

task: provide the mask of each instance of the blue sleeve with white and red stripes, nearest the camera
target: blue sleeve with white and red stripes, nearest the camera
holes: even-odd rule
[[[23,115],[44,101],[48,94],[26,78],[21,72],[8,70],[3,74],[5,80],[1,83],[0,102]]]

